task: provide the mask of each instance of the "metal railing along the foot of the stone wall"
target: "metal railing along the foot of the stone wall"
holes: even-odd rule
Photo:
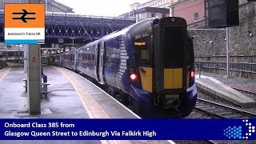
[[[226,70],[226,62],[195,61],[194,64],[199,69],[206,68]],[[256,63],[230,62],[230,70],[256,74]]]

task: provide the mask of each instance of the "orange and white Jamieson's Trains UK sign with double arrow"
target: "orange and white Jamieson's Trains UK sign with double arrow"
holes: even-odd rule
[[[45,4],[5,3],[6,44],[44,44],[45,26]]]

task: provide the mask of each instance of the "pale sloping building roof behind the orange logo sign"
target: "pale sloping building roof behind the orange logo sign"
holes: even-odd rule
[[[5,3],[27,3],[28,0],[1,0],[0,1],[0,10],[4,9]],[[55,0],[41,0],[41,3],[47,2],[46,10],[49,12],[62,12],[62,13],[74,13],[73,9],[70,6],[66,6],[61,2]]]

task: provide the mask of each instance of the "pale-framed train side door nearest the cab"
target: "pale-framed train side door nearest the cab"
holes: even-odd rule
[[[99,46],[99,59],[98,59],[98,75],[99,75],[99,80],[98,82],[103,84],[104,79],[103,79],[103,65],[104,65],[104,42],[101,42],[101,45]]]

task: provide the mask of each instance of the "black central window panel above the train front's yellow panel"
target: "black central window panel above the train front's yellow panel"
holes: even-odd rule
[[[182,67],[184,36],[182,26],[166,26],[164,45],[164,66]]]

